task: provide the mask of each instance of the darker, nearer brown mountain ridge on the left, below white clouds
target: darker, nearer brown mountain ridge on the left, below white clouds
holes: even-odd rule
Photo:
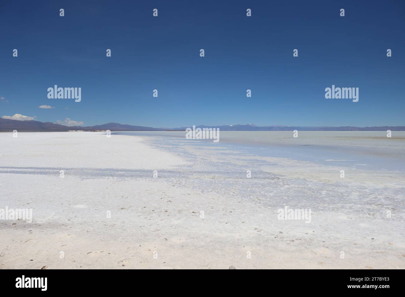
[[[21,132],[41,132],[41,131],[69,131],[69,130],[84,130],[84,131],[95,131],[95,130],[111,130],[111,131],[164,131],[164,129],[143,127],[143,126],[132,126],[132,125],[122,125],[118,123],[108,123],[96,126],[64,126],[60,124],[54,124],[51,122],[38,122],[38,121],[17,121],[0,118],[0,131],[21,131]]]

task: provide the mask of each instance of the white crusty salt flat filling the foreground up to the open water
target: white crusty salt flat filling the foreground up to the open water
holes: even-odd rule
[[[0,133],[0,209],[33,213],[0,220],[0,268],[405,268],[402,173],[188,143]]]

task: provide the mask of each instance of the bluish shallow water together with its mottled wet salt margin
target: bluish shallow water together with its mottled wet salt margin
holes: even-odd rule
[[[342,183],[339,179],[324,183],[305,177],[288,178],[261,168],[273,165],[262,157],[289,158],[313,162],[320,169],[344,166],[353,171],[361,170],[373,175],[370,180],[378,179],[382,173],[392,174],[393,179],[398,180],[396,175],[405,170],[404,132],[394,132],[393,137],[398,138],[393,140],[387,139],[383,132],[299,133],[299,143],[290,132],[221,132],[219,143],[185,139],[183,132],[117,134],[146,137],[154,147],[189,161],[192,165],[179,169],[180,179],[168,176],[176,185],[192,185],[203,193],[213,191],[220,196],[257,200],[266,207],[294,205],[313,211],[339,211],[356,216],[373,214],[380,218],[392,211],[398,219],[403,219],[404,187],[370,188],[362,183]],[[267,137],[264,140],[263,135]],[[247,169],[252,169],[251,179],[246,178]],[[322,177],[322,173],[319,175]]]

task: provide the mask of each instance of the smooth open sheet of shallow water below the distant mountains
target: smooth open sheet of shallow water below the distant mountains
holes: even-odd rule
[[[299,131],[298,137],[284,131],[220,131],[220,141],[185,139],[183,131],[118,132],[139,135],[154,145],[176,150],[184,145],[208,149],[224,147],[243,155],[291,158],[323,165],[352,166],[366,170],[405,172],[405,132],[393,131]],[[171,147],[173,149],[171,149]]]

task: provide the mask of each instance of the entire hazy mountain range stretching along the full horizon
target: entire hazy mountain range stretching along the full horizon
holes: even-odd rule
[[[41,132],[41,131],[69,131],[69,130],[111,130],[111,131],[185,131],[186,128],[191,126],[184,126],[180,128],[152,128],[144,126],[123,125],[118,123],[108,123],[96,126],[64,126],[54,124],[51,122],[38,122],[38,121],[17,121],[0,118],[0,132],[11,132],[17,130],[19,132]],[[405,126],[380,126],[380,127],[300,127],[300,126],[256,126],[254,124],[245,125],[222,125],[222,126],[204,126],[198,125],[196,128],[219,128],[220,131],[405,131]]]

